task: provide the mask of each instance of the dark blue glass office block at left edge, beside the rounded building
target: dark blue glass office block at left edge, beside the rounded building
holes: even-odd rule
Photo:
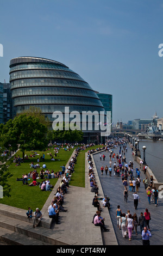
[[[0,83],[0,123],[7,123],[12,119],[12,97],[10,90],[10,83]]]

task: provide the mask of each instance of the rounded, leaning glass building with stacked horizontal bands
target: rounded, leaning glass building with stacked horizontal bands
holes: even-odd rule
[[[65,107],[80,114],[82,111],[104,112],[101,101],[89,84],[55,60],[37,57],[11,59],[10,83],[16,113],[35,106],[53,122],[53,112],[64,113]],[[87,129],[83,132],[92,133]]]

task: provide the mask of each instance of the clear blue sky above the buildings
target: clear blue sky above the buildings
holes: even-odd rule
[[[163,1],[0,0],[0,82],[19,56],[57,60],[101,93],[113,121],[163,117]]]

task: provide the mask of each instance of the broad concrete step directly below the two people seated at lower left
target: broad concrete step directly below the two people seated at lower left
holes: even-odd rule
[[[21,234],[49,245],[68,245],[64,242],[65,237],[61,233],[55,232],[57,228],[54,230],[43,227],[33,228],[33,222],[27,223],[4,215],[0,216],[0,227],[12,231],[15,236]]]

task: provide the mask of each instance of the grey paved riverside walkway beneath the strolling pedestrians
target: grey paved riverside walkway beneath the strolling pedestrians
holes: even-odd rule
[[[120,147],[117,147],[117,149],[114,149],[115,154],[118,153]],[[116,209],[117,205],[120,205],[120,208],[122,209],[122,212],[127,214],[127,210],[130,210],[130,214],[133,216],[133,214],[136,212],[137,217],[139,218],[140,213],[145,212],[145,209],[147,208],[149,212],[151,212],[151,221],[149,222],[149,226],[151,229],[152,237],[150,238],[151,245],[163,245],[162,235],[163,235],[163,222],[162,222],[162,210],[163,210],[163,199],[159,199],[158,206],[156,207],[154,203],[151,204],[148,203],[147,194],[145,191],[145,186],[143,184],[143,179],[145,178],[145,174],[141,172],[141,184],[139,188],[139,194],[140,202],[138,204],[137,210],[134,208],[134,199],[133,199],[133,192],[129,192],[129,186],[128,186],[128,202],[124,202],[123,197],[123,191],[124,187],[122,185],[122,179],[121,174],[120,177],[114,176],[114,170],[113,170],[113,164],[114,162],[117,163],[117,160],[112,161],[112,176],[105,175],[105,172],[103,172],[103,175],[101,175],[101,166],[107,165],[110,166],[109,161],[109,153],[105,152],[105,161],[99,159],[99,154],[96,154],[93,156],[93,159],[96,164],[96,169],[99,175],[99,180],[101,181],[101,186],[103,189],[104,194],[110,197],[110,204],[111,209],[109,210],[112,225],[115,230],[116,238],[118,245],[142,245],[142,237],[140,234],[140,227],[137,227],[137,233],[135,234],[135,230],[132,234],[131,241],[127,239],[124,239],[122,237],[122,230],[117,228],[117,220],[116,220]],[[119,153],[118,153],[119,154]],[[135,177],[135,168],[139,168],[139,164],[134,161],[134,158],[132,156],[131,148],[128,144],[128,151],[126,153],[126,162],[132,161],[134,163],[134,177]],[[118,164],[117,164],[118,165]],[[129,180],[129,179],[128,179]],[[135,190],[136,191],[136,190]]]

